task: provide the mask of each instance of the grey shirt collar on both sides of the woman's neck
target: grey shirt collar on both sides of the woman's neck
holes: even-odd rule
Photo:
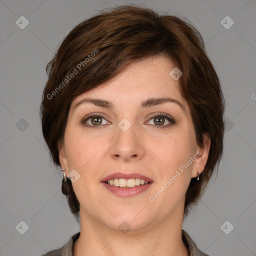
[[[80,232],[75,233],[70,237],[68,242],[65,245],[63,245],[61,248],[48,251],[41,256],[73,256],[72,255],[73,244],[76,241],[76,239],[79,237],[79,235],[80,235]],[[197,246],[195,245],[191,237],[183,229],[181,231],[181,237],[185,246],[189,251],[189,256],[209,256],[208,254],[203,253],[197,248]]]

